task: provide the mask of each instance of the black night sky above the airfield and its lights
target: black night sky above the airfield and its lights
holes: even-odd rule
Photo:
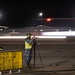
[[[0,25],[9,27],[29,27],[39,25],[39,13],[42,18],[75,18],[74,0],[0,0]],[[71,22],[70,22],[71,21]],[[48,23],[54,26],[72,26],[75,20]],[[69,23],[70,22],[70,23]],[[45,22],[43,24],[46,25]],[[61,25],[60,25],[61,24]]]

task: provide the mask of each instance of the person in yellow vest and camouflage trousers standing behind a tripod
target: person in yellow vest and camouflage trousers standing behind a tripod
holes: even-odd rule
[[[33,39],[30,33],[27,34],[27,38],[24,41],[25,47],[25,67],[30,67],[30,61],[32,57]]]

